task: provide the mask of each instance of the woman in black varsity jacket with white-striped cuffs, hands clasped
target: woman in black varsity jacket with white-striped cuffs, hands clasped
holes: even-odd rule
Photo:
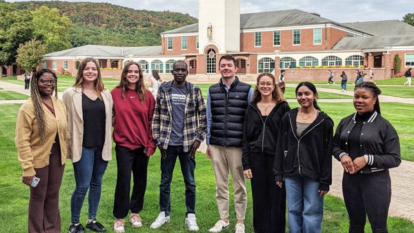
[[[379,94],[374,83],[356,85],[353,104],[357,112],[342,119],[335,132],[333,155],[344,167],[342,192],[349,232],[364,232],[366,216],[374,233],[388,232],[388,168],[401,163],[400,141],[393,125],[380,115]]]

